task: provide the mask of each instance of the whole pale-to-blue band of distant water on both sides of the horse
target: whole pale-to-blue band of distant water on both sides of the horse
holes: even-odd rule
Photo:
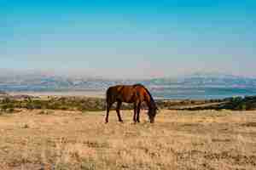
[[[9,94],[29,94],[34,96],[88,96],[105,98],[106,90],[78,90],[78,91],[19,91]],[[149,90],[156,99],[224,99],[234,96],[256,95],[256,88],[161,88]]]

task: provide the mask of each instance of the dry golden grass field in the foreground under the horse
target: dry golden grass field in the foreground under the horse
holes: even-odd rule
[[[256,169],[256,111],[131,113],[3,113],[0,169]]]

